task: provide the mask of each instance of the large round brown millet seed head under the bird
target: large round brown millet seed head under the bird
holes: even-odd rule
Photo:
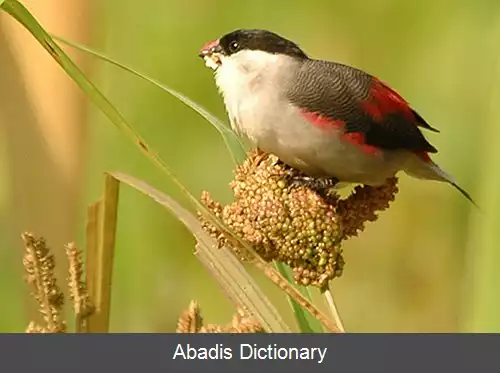
[[[253,150],[230,184],[235,201],[222,206],[204,192],[202,202],[263,259],[289,265],[299,284],[323,288],[342,274],[342,240],[357,235],[366,221],[376,220],[377,210],[388,207],[397,191],[396,179],[380,188],[356,187],[341,200],[291,186],[288,180],[294,176],[300,172]],[[201,221],[219,245],[229,244],[210,222],[203,217]],[[241,254],[237,245],[228,246]]]

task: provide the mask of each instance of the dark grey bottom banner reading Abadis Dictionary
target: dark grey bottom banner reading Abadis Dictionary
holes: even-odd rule
[[[500,334],[0,334],[2,372],[482,373],[499,363]]]

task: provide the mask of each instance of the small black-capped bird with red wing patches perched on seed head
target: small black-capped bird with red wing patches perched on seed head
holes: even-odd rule
[[[380,186],[402,170],[474,203],[429,156],[437,150],[420,129],[439,131],[378,78],[258,29],[228,33],[199,56],[215,70],[233,130],[306,175],[294,183]]]

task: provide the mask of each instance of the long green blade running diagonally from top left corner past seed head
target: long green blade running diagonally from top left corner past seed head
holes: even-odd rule
[[[189,199],[190,203],[210,220],[214,226],[226,235],[232,243],[237,244],[251,258],[253,264],[259,268],[264,275],[275,285],[279,286],[302,307],[313,314],[329,331],[340,333],[341,329],[327,316],[319,311],[308,299],[294,288],[281,274],[271,265],[266,263],[255,250],[241,240],[234,232],[228,229],[224,223],[214,216],[200,201],[198,201],[173,174],[165,162],[154,152],[146,142],[137,134],[134,128],[125,120],[122,114],[109,102],[102,92],[82,73],[78,66],[64,53],[54,42],[51,36],[43,29],[31,13],[17,0],[5,0],[1,8],[9,13],[14,19],[22,24],[32,36],[50,53],[52,58],[65,70],[68,76],[80,87],[94,104],[110,119],[110,121],[131,140],[150,161],[161,169]]]

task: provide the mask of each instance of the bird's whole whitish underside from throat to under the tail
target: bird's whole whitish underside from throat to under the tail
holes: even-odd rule
[[[391,152],[367,156],[345,142],[338,128],[312,125],[288,102],[284,92],[299,67],[300,62],[291,57],[261,51],[223,58],[216,83],[233,129],[254,146],[311,176],[373,185],[392,176],[404,157]]]

